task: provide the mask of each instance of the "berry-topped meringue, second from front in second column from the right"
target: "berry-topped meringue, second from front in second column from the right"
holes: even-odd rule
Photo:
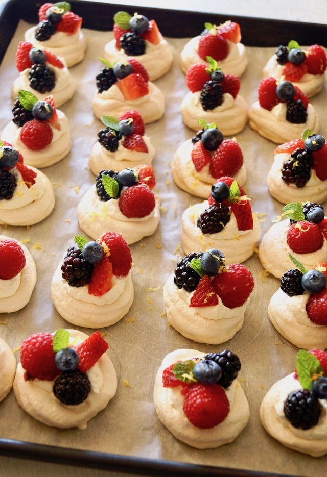
[[[220,250],[191,252],[165,283],[167,319],[185,338],[223,343],[242,328],[253,287],[250,270],[240,263],[226,265]]]

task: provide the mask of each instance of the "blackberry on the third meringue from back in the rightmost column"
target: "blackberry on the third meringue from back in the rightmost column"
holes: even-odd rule
[[[282,180],[287,184],[304,187],[310,179],[313,157],[307,149],[298,147],[282,167]]]

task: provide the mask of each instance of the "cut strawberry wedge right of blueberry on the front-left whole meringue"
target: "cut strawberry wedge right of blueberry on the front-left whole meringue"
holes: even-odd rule
[[[92,333],[86,340],[75,347],[79,356],[78,369],[86,373],[99,361],[108,348],[108,343],[102,338],[99,331]]]

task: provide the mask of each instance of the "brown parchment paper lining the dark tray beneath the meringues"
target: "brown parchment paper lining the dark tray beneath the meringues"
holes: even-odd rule
[[[10,85],[17,77],[14,56],[17,44],[24,38],[28,27],[26,22],[19,22],[0,67],[1,130],[12,118]],[[77,91],[74,98],[61,107],[69,119],[72,151],[58,164],[42,169],[54,186],[55,210],[43,222],[30,228],[0,227],[0,234],[26,244],[38,273],[30,303],[17,313],[0,315],[0,336],[13,349],[17,349],[31,333],[72,327],[54,309],[50,284],[64,250],[73,244],[74,235],[82,233],[77,223],[76,207],[95,180],[87,162],[90,149],[97,140],[97,132],[102,127],[91,109],[95,76],[102,68],[97,58],[103,56],[104,45],[112,38],[111,32],[84,29],[84,33],[87,37],[86,58],[71,69],[78,85]],[[183,126],[180,115],[180,102],[187,88],[178,56],[187,39],[168,38],[168,41],[174,51],[174,64],[164,78],[155,82],[166,96],[166,113],[162,119],[146,127],[156,147],[153,162],[157,178],[155,190],[162,198],[163,213],[156,233],[131,245],[135,298],[128,315],[112,327],[101,329],[106,332],[105,339],[110,346],[108,354],[118,373],[118,392],[106,410],[92,419],[84,431],[48,428],[22,411],[11,392],[0,405],[0,437],[189,464],[289,475],[324,475],[327,458],[314,459],[286,449],[267,435],[259,420],[263,396],[275,381],[294,369],[297,348],[278,335],[269,322],[267,305],[278,288],[278,281],[262,277],[263,268],[256,254],[245,262],[254,275],[255,288],[243,328],[232,340],[217,346],[206,346],[183,338],[168,326],[162,287],[183,256],[180,249],[181,214],[189,205],[201,201],[181,191],[171,177],[170,162],[176,147],[194,133]],[[274,49],[247,48],[249,66],[241,79],[240,93],[249,106],[256,99],[262,67]],[[320,132],[327,135],[323,120],[325,89],[312,99],[312,104],[321,118]],[[245,190],[252,197],[253,211],[260,214],[264,233],[283,207],[270,197],[266,186],[275,144],[261,138],[248,126],[237,135],[237,140],[248,171]],[[93,330],[86,331],[91,333]],[[162,358],[181,347],[206,352],[227,347],[240,357],[242,369],[239,379],[249,401],[251,417],[246,429],[233,443],[213,450],[193,449],[177,441],[158,421],[152,401],[154,376]]]

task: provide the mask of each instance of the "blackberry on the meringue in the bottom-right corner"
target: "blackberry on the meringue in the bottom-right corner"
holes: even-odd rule
[[[320,416],[319,400],[309,389],[292,391],[284,403],[284,414],[297,429],[311,429]]]

